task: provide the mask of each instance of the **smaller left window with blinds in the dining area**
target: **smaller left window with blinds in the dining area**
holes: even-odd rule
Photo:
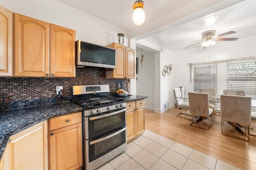
[[[198,89],[216,89],[218,85],[217,65],[194,67],[194,91]]]

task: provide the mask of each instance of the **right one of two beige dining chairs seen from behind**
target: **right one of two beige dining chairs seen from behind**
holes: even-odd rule
[[[252,112],[252,99],[246,96],[220,95],[220,119],[221,133],[226,136],[246,140],[249,142],[250,124]],[[238,130],[246,139],[239,138],[235,134],[224,133],[224,122],[228,122]],[[244,129],[244,130],[241,130]]]

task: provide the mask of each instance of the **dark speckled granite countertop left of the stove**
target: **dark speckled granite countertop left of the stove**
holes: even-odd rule
[[[0,113],[0,160],[10,136],[54,116],[82,111],[73,102],[12,109]]]

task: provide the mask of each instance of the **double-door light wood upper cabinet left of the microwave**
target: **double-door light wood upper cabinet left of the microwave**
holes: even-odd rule
[[[75,77],[74,30],[14,14],[15,76]]]

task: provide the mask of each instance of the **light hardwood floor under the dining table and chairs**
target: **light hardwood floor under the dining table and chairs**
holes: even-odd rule
[[[180,112],[182,110],[177,108],[164,113],[146,110],[146,129],[238,168],[256,169],[256,137],[250,136],[250,142],[246,142],[222,135],[220,116],[217,115],[209,131],[192,127],[189,119],[176,117]],[[189,113],[188,110],[183,112]],[[225,127],[232,132],[230,125]]]

